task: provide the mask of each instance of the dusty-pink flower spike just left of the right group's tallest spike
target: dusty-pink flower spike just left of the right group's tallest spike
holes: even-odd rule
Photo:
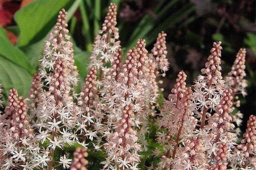
[[[161,117],[157,120],[157,125],[168,130],[167,135],[159,132],[157,142],[164,146],[165,154],[162,156],[162,162],[158,169],[172,169],[176,163],[175,156],[178,150],[180,139],[186,134],[184,124],[192,121],[189,116],[189,105],[192,97],[191,88],[186,88],[186,74],[180,71],[176,79],[175,88],[169,95],[169,101],[165,101],[165,105],[161,110]],[[195,126],[192,129],[193,130]],[[176,139],[175,139],[175,138]]]

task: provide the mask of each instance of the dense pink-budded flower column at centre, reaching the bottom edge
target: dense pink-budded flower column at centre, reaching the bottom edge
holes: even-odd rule
[[[139,43],[140,41],[137,42],[137,44]],[[109,126],[116,130],[111,130],[107,134],[108,143],[104,147],[108,157],[107,161],[103,162],[105,169],[113,169],[116,165],[122,170],[129,169],[137,167],[137,162],[140,161],[138,155],[140,144],[138,144],[136,136],[137,131],[134,129],[140,124],[135,113],[141,110],[140,105],[136,104],[140,98],[140,91],[137,89],[138,57],[136,48],[128,51],[125,65],[119,74],[119,80],[116,87],[113,87],[115,90],[113,94],[116,94],[115,104],[108,109],[116,115],[114,121],[109,122]]]

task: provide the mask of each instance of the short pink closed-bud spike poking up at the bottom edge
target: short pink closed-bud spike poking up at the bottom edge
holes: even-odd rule
[[[76,148],[70,170],[87,170],[85,166],[88,164],[88,161],[84,158],[87,156],[88,153],[85,147]]]

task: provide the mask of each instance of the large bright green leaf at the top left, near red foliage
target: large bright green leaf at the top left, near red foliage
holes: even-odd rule
[[[20,28],[19,46],[37,42],[45,37],[56,23],[56,16],[61,8],[66,11],[73,0],[35,0],[21,8],[15,14],[15,21]]]

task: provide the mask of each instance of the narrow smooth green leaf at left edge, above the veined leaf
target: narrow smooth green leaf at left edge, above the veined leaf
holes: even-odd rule
[[[26,55],[20,51],[19,48],[13,46],[9,40],[4,37],[0,37],[0,54],[2,57],[8,59],[9,61],[25,68],[30,74],[34,73],[34,68],[30,65]]]

